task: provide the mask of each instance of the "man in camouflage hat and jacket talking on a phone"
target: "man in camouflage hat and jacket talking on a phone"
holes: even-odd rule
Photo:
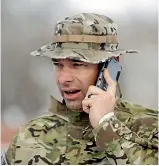
[[[108,17],[82,13],[55,26],[54,42],[32,52],[56,68],[63,103],[21,127],[6,152],[8,164],[157,164],[158,112],[116,98],[116,83],[103,71],[107,91],[94,86],[101,64],[131,51],[118,49]]]

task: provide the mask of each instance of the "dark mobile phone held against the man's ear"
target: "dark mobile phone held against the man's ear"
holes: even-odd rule
[[[108,88],[108,83],[105,81],[103,76],[103,71],[105,68],[108,69],[109,75],[115,82],[118,82],[120,72],[122,70],[121,65],[119,64],[118,61],[115,60],[115,58],[107,59],[103,63],[103,66],[100,69],[98,77],[97,77],[96,86],[103,89],[104,91],[106,91]]]

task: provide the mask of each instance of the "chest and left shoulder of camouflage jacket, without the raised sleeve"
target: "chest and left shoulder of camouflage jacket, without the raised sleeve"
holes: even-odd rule
[[[92,134],[88,115],[52,98],[48,115],[22,127],[7,151],[9,164],[108,164]],[[51,112],[52,111],[52,112]]]

